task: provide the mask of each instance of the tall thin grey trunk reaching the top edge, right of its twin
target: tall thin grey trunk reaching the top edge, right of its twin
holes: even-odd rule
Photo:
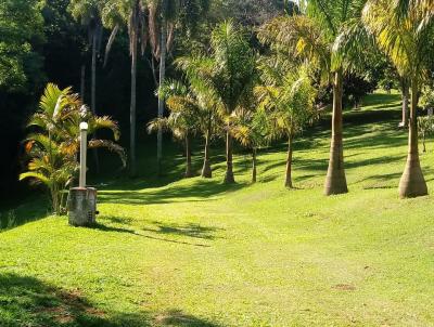
[[[166,50],[167,50],[167,21],[165,17],[166,1],[163,1],[163,19],[161,30],[161,45],[159,45],[159,81],[158,86],[163,86],[166,77]],[[163,96],[158,95],[158,118],[164,116],[164,101]],[[163,158],[163,131],[158,129],[157,145],[156,145],[156,161],[157,172],[161,173]]]

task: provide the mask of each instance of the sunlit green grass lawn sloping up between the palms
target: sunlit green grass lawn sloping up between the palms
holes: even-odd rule
[[[0,326],[434,326],[434,201],[397,196],[398,96],[365,103],[346,113],[347,195],[322,196],[317,128],[296,144],[296,191],[283,145],[260,154],[256,185],[248,157],[230,187],[221,157],[210,181],[174,181],[182,158],[166,158],[163,181],[102,187],[94,228],[47,218],[1,233]],[[421,162],[434,189],[432,143]]]

